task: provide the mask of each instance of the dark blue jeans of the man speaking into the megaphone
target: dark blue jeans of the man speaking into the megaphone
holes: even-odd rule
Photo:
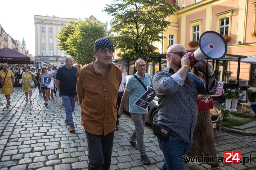
[[[184,170],[184,163],[180,162],[184,160],[180,158],[180,155],[187,155],[192,143],[184,142],[171,133],[169,140],[163,140],[160,137],[157,137],[157,139],[165,159],[161,170]]]

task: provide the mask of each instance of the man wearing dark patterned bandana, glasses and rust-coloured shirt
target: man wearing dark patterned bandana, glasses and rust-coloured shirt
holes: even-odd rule
[[[112,63],[112,42],[100,38],[94,59],[77,72],[77,96],[88,143],[88,170],[109,170],[116,128],[116,100],[122,71]]]

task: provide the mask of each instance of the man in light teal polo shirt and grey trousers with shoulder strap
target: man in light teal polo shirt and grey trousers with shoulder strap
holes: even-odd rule
[[[142,59],[138,59],[135,62],[135,69],[137,70],[137,73],[134,74],[137,76],[144,85],[153,87],[153,81],[150,74],[145,73],[146,72],[146,63]],[[120,108],[118,115],[121,117],[123,114],[123,107],[125,104],[125,101],[127,97],[129,96],[129,112],[131,113],[132,120],[135,126],[135,129],[131,135],[130,138],[130,144],[132,145],[133,149],[138,149],[140,152],[140,159],[144,163],[150,163],[150,159],[148,158],[146,154],[146,146],[144,144],[144,125],[147,120],[148,110],[145,111],[135,105],[133,103],[140,98],[145,93],[145,88],[143,85],[134,77],[132,76],[129,78],[129,80],[126,83],[124,95],[121,100]],[[136,139],[138,142],[138,146],[136,145]]]

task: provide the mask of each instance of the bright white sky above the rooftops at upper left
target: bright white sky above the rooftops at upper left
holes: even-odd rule
[[[88,18],[93,15],[99,21],[108,21],[111,16],[102,12],[106,4],[114,0],[3,0],[1,1],[0,24],[14,40],[24,41],[29,53],[35,56],[34,15],[60,18]]]

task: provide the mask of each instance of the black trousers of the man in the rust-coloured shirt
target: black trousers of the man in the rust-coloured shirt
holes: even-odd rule
[[[96,135],[85,130],[88,143],[88,170],[109,170],[115,130]]]

